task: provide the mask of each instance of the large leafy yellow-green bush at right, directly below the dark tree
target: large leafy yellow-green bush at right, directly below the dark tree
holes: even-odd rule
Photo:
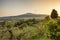
[[[49,37],[51,39],[57,39],[57,27],[58,27],[58,23],[56,22],[56,20],[50,20],[47,24],[48,27],[48,32],[49,32]]]

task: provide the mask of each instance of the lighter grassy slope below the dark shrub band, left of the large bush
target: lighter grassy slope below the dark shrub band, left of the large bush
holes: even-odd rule
[[[29,23],[32,23],[31,20]],[[39,21],[33,25],[28,25],[27,23],[23,25],[23,28],[20,28],[19,26],[13,27],[12,25],[14,24],[12,23],[11,27],[6,27],[5,25],[5,27],[0,27],[0,40],[10,40],[11,34],[8,30],[11,30],[13,34],[12,40],[50,40],[46,34],[46,32],[48,32],[46,31],[46,23],[47,21],[45,20]]]

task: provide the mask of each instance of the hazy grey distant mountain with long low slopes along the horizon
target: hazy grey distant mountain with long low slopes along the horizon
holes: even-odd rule
[[[46,16],[47,15],[43,14],[38,15],[38,14],[26,13],[18,16],[0,17],[0,20],[16,20],[16,19],[32,19],[32,18],[43,19]]]

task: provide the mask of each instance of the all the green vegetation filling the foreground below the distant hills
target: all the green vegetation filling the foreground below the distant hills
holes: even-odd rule
[[[60,40],[60,19],[0,22],[0,40]]]

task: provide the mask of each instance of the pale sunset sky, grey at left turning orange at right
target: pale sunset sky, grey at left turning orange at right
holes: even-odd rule
[[[50,15],[52,9],[60,15],[60,0],[0,0],[0,17],[25,13]]]

